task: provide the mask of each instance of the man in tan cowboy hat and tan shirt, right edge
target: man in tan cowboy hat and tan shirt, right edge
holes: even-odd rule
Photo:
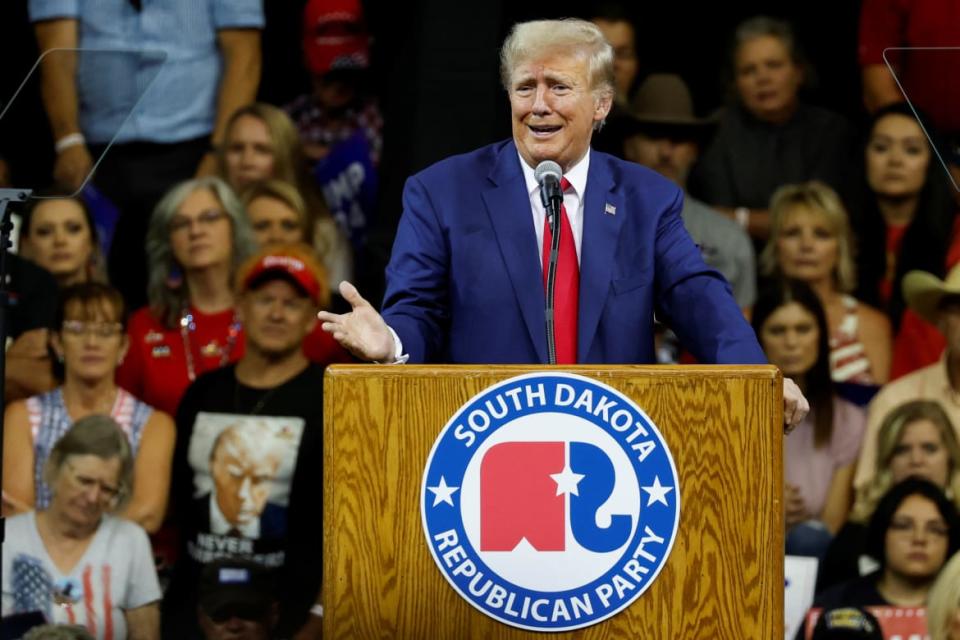
[[[897,406],[911,400],[936,400],[946,411],[960,438],[960,265],[945,280],[932,273],[911,271],[903,278],[907,306],[935,325],[947,341],[940,361],[890,382],[880,390],[867,413],[860,460],[853,479],[863,488],[876,472],[877,434],[884,418]]]

